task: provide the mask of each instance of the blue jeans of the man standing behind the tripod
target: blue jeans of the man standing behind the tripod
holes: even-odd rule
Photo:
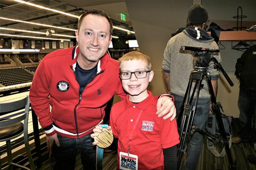
[[[183,103],[184,97],[173,94],[175,99],[175,107],[178,118],[180,114],[180,107]],[[193,101],[194,102],[194,101]],[[192,102],[192,105],[194,104]],[[199,129],[204,130],[207,117],[210,110],[210,99],[198,99],[195,116],[192,125],[198,126]],[[183,170],[195,170],[198,164],[199,156],[204,142],[204,136],[196,132],[189,141],[189,148],[187,151],[186,161]]]

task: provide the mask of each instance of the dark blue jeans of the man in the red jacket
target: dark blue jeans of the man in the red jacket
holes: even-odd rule
[[[60,147],[54,143],[50,154],[51,170],[74,170],[76,164],[76,150],[79,148],[84,170],[96,170],[96,147],[90,134],[80,139],[72,139],[58,135]]]

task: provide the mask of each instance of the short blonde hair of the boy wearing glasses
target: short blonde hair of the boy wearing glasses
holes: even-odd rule
[[[146,66],[148,68],[148,70],[151,70],[151,61],[150,58],[148,57],[148,55],[144,54],[141,51],[131,51],[126,53],[125,55],[123,55],[121,58],[118,59],[120,66],[119,68],[121,68],[122,62],[124,61],[129,61],[129,60],[143,60],[146,62]]]

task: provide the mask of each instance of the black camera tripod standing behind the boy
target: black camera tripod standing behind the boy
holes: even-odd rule
[[[204,78],[206,78],[207,85],[209,88],[209,93],[210,93],[210,99],[213,106],[212,107],[213,112],[216,114],[216,122],[218,124],[221,137],[223,139],[222,143],[225,146],[225,151],[230,163],[230,169],[236,170],[236,161],[233,161],[232,159],[229,143],[227,140],[227,136],[226,136],[224,125],[221,118],[220,108],[222,107],[219,102],[218,103],[216,102],[216,98],[215,98],[212,83],[211,83],[211,77],[207,72],[209,62],[213,61],[215,64],[214,68],[220,69],[221,72],[224,74],[224,77],[229,82],[230,86],[233,86],[233,82],[230,80],[230,78],[222,68],[221,64],[217,61],[217,59],[212,57],[212,53],[219,52],[219,50],[209,50],[206,48],[187,47],[187,46],[183,46],[182,49],[194,51],[193,53],[194,54],[194,61],[193,61],[194,70],[191,71],[189,83],[186,89],[183,104],[180,110],[180,115],[177,121],[178,127],[179,127],[179,135],[180,135],[180,144],[178,146],[178,152],[177,152],[177,158],[178,158],[177,167],[178,168],[180,167],[180,162],[183,157],[183,153],[186,153],[188,143],[189,143],[189,138],[193,133],[195,132],[203,133],[209,136],[211,139],[216,140],[214,136],[211,136],[209,133],[206,133],[203,130],[198,129],[197,127],[192,127],[193,119],[195,116],[195,110],[198,103],[199,93],[202,87],[202,81]],[[194,83],[194,88],[193,88],[193,91],[191,91],[193,83]],[[194,98],[194,95],[195,95],[195,98]],[[194,100],[194,103],[192,105],[193,100]]]

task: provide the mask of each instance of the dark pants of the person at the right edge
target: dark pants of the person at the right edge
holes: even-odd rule
[[[240,88],[238,107],[240,116],[237,135],[243,141],[250,139],[253,143],[256,143],[256,91]]]

